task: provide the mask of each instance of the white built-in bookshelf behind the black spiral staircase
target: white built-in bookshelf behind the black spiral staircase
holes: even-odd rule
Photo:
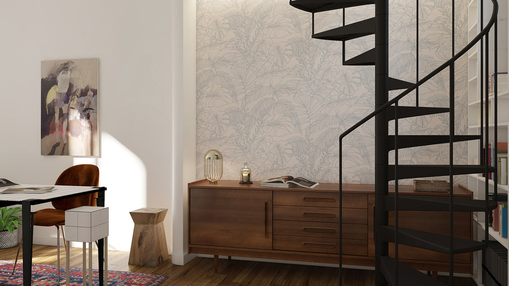
[[[507,23],[507,15],[508,7],[507,1],[499,1],[499,9],[498,9],[498,72],[509,72],[509,61],[508,55],[509,52],[507,47],[509,46],[509,34],[508,34],[508,23]],[[480,25],[480,0],[472,0],[468,4],[468,40],[472,40],[481,30],[481,27],[486,26],[492,12],[492,4],[489,0],[484,0],[484,25]],[[492,31],[493,28],[492,28]],[[490,43],[489,43],[489,53],[490,55],[494,54],[494,37],[493,33],[490,33]],[[467,54],[468,61],[468,134],[481,134],[482,128],[480,128],[479,123],[479,108],[484,108],[480,104],[480,94],[481,91],[484,91],[486,88],[487,82],[485,80],[486,73],[484,71],[484,67],[480,66],[480,59],[483,58],[485,61],[485,53],[481,54],[480,52],[480,43],[476,44],[472,47]],[[494,60],[491,56],[490,66],[488,70],[488,74],[493,74],[494,71]],[[484,78],[481,78],[483,75]],[[481,81],[483,81],[483,86],[481,85]],[[495,126],[495,118],[494,118],[494,99],[495,95],[490,95],[488,98],[488,105],[490,108],[489,112],[489,127],[488,135],[489,141],[492,146],[494,146],[494,131],[497,130],[498,133],[498,142],[508,142],[509,141],[509,89],[501,90],[501,85],[499,84],[499,90],[497,94],[497,102],[498,102],[498,120],[497,125]],[[484,94],[484,93],[483,93]],[[485,99],[483,98],[483,103],[486,104]],[[484,105],[483,104],[483,105]],[[483,112],[485,110],[483,109]],[[483,122],[486,120],[486,115],[483,114]],[[486,128],[484,128],[484,132],[486,132]],[[483,141],[485,141],[485,134],[483,135]],[[480,146],[478,140],[473,140],[468,142],[468,164],[474,164],[474,159],[477,159],[477,162],[480,162]],[[487,178],[480,176],[479,174],[471,174],[468,175],[468,188],[472,190],[473,196],[476,199],[485,199],[485,191],[486,191],[486,180]],[[488,180],[488,191],[491,193],[494,191],[495,183],[493,180]],[[499,193],[509,193],[509,186],[507,185],[497,185],[497,191]],[[484,240],[485,230],[486,230],[486,222],[485,222],[485,214],[476,213],[473,214],[474,220],[474,239],[476,240]],[[509,226],[509,225],[508,225]],[[488,227],[489,231],[489,239],[496,240],[500,242],[505,248],[509,249],[509,240],[507,238],[502,238],[498,232],[494,231],[492,227]],[[483,285],[482,281],[482,269],[481,261],[482,261],[482,252],[477,251],[474,252],[474,280],[478,285]],[[509,277],[508,277],[509,279]]]

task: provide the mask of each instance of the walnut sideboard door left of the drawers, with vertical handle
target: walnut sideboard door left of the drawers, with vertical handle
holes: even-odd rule
[[[272,249],[272,191],[189,192],[189,244]]]

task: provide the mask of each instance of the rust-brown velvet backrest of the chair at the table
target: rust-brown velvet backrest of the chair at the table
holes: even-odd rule
[[[55,185],[61,186],[99,186],[99,168],[96,165],[82,164],[65,169],[59,178],[56,179]],[[70,210],[82,206],[96,206],[97,202],[94,197],[97,193],[84,194],[80,196],[59,199],[51,204],[53,208],[60,210]]]

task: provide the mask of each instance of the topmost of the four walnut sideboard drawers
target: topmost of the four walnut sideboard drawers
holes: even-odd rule
[[[280,206],[340,207],[339,193],[274,191],[273,204]],[[367,194],[343,194],[344,208],[367,209]]]

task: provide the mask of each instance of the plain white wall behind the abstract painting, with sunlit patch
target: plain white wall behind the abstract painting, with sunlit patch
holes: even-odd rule
[[[0,1],[0,177],[52,184],[73,163],[97,163],[110,249],[130,249],[129,211],[172,206],[172,2]],[[80,58],[99,58],[102,157],[41,156],[40,62]],[[54,236],[36,227],[34,242],[55,244]]]

